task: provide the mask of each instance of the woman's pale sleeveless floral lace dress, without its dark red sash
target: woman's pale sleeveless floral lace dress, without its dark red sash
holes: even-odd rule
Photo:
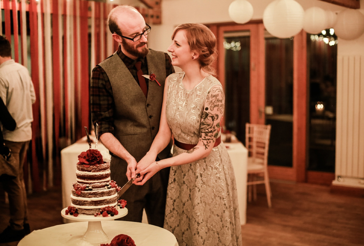
[[[179,142],[197,144],[207,91],[220,84],[206,77],[192,90],[184,73],[170,75],[166,116]],[[186,152],[174,146],[173,155]],[[241,246],[241,227],[234,170],[223,143],[194,163],[171,167],[165,229],[179,246]]]

